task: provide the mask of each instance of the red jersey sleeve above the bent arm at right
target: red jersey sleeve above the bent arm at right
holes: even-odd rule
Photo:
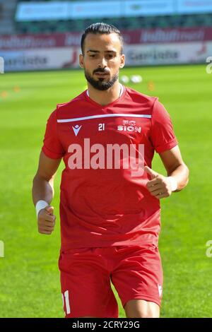
[[[158,99],[153,105],[151,141],[157,153],[170,150],[178,144],[170,115]]]

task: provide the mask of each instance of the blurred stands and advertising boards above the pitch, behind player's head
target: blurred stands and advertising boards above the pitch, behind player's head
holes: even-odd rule
[[[103,21],[122,30],[127,66],[201,63],[212,54],[211,8],[210,0],[0,0],[1,57],[5,71],[76,68],[81,32]]]

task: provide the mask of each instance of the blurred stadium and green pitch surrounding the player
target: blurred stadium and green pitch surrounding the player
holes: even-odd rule
[[[63,165],[51,237],[37,233],[31,186],[49,114],[86,89],[81,34],[100,21],[122,31],[120,76],[140,75],[126,85],[160,97],[191,172],[187,189],[161,201],[161,316],[212,317],[211,0],[0,0],[0,317],[64,316],[57,269]],[[158,155],[153,168],[165,174]]]

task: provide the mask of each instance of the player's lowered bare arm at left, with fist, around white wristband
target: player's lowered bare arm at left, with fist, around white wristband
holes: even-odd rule
[[[39,165],[37,173],[33,179],[33,203],[46,203],[46,207],[42,208],[37,215],[38,232],[50,235],[54,230],[56,217],[54,208],[50,206],[54,196],[54,176],[57,172],[61,158],[48,158],[45,153],[40,153]],[[38,203],[39,204],[39,203]]]

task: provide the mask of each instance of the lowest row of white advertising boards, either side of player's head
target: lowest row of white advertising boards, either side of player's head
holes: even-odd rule
[[[79,68],[80,47],[54,47],[0,52],[4,70],[32,71]],[[126,66],[205,63],[212,56],[212,42],[126,45]]]

